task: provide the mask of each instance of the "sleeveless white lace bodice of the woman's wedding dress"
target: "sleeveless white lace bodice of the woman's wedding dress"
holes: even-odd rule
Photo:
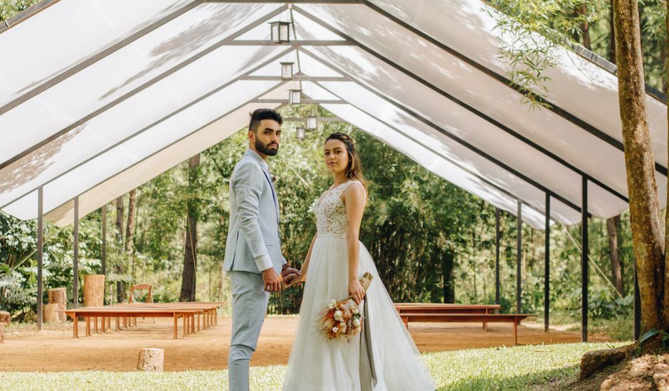
[[[322,193],[316,200],[314,214],[318,235],[344,235],[346,233],[346,205],[342,200],[342,194],[353,183],[359,183],[362,186],[362,183],[358,181],[347,181]]]

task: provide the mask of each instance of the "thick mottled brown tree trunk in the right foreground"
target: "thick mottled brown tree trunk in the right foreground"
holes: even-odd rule
[[[614,0],[618,101],[630,200],[632,244],[641,291],[641,333],[660,328],[664,285],[663,224],[655,183],[655,157],[648,130],[638,2]],[[659,338],[643,346],[655,350]]]

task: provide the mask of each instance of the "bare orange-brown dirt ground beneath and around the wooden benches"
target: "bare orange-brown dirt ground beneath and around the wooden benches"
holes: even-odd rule
[[[0,344],[0,371],[59,372],[72,370],[132,371],[139,348],[165,350],[165,370],[214,370],[227,368],[231,318],[185,339],[172,339],[171,320],[142,321],[134,330],[72,338],[72,324],[58,330],[12,331]],[[84,323],[80,322],[80,335]],[[285,365],[295,336],[297,317],[266,319],[251,365]],[[512,346],[512,325],[497,323],[485,332],[476,323],[411,323],[409,331],[421,352]],[[180,336],[181,334],[179,334]],[[527,323],[518,329],[519,343],[566,343],[580,341],[580,331],[552,330]],[[606,341],[591,336],[591,341]]]

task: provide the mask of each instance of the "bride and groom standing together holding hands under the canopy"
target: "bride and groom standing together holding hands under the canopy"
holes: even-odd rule
[[[355,142],[333,133],[323,157],[332,186],[314,203],[317,233],[300,270],[287,266],[279,238],[279,202],[268,157],[278,154],[283,119],[257,109],[249,146],[230,179],[230,220],[224,268],[232,289],[233,330],[228,353],[231,391],[248,390],[270,292],[305,282],[297,335],[283,390],[434,390],[420,353],[384,288],[372,257],[359,242],[367,186]],[[367,291],[359,278],[374,277]],[[317,330],[332,299],[351,296],[364,314],[364,333],[327,340]]]

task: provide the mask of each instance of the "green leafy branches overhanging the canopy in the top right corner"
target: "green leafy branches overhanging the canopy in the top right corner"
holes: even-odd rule
[[[488,0],[486,11],[501,33],[500,60],[511,65],[507,77],[527,92],[522,102],[532,109],[545,106],[537,97],[547,93],[547,70],[556,65],[556,49],[583,43],[588,26],[591,50],[609,58],[611,4],[608,0]],[[666,3],[639,1],[641,45],[646,81],[665,89]]]

